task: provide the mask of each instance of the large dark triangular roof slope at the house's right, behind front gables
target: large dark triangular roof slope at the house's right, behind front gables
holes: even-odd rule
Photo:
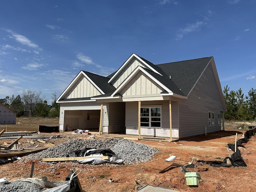
[[[188,96],[212,57],[158,64],[184,95]]]

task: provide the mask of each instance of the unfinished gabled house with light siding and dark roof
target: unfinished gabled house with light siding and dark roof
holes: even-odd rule
[[[80,71],[57,102],[60,132],[171,139],[221,130],[226,111],[213,57],[155,65],[132,54],[107,77]]]

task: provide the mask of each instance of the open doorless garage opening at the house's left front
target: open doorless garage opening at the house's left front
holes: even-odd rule
[[[64,131],[89,130],[99,131],[100,110],[65,110]]]

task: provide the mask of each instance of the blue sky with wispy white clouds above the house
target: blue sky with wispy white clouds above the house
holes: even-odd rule
[[[0,1],[0,98],[64,91],[132,54],[154,64],[213,56],[222,85],[256,88],[255,0]]]

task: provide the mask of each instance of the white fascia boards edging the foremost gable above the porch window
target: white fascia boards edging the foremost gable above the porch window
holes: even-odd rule
[[[172,91],[167,88],[166,86],[164,86],[161,82],[159,82],[156,78],[154,78],[151,74],[149,74],[146,70],[144,70],[143,67],[138,66],[135,68],[135,70],[120,84],[120,86],[118,86],[118,88],[116,88],[116,90],[111,94],[111,96],[114,96],[118,91],[120,91],[120,89],[122,89],[134,76],[138,71],[142,71],[144,74],[146,74],[147,76],[149,76],[152,80],[154,80],[154,82],[156,82],[158,85],[160,85],[162,88],[164,88],[167,92],[172,93]]]

